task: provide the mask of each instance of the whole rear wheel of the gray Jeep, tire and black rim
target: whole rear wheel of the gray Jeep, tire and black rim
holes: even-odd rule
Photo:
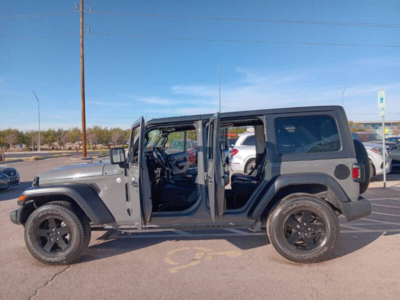
[[[325,260],[339,237],[332,208],[309,194],[283,198],[269,215],[266,230],[276,251],[294,262]]]

